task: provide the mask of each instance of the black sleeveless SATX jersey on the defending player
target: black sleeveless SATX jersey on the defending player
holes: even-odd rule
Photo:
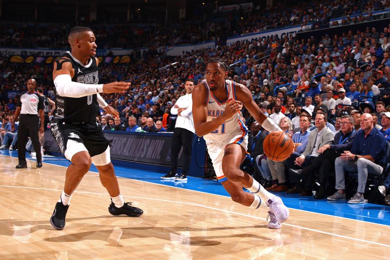
[[[96,59],[89,60],[87,65],[77,60],[69,51],[57,60],[57,70],[62,68],[62,63],[69,61],[75,69],[72,81],[84,84],[98,84],[98,65]],[[67,123],[86,124],[99,113],[99,104],[96,94],[81,98],[69,98],[59,96],[56,90],[56,114],[55,120]]]

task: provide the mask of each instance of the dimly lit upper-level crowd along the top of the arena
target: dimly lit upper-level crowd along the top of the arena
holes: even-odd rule
[[[171,46],[197,43],[207,40],[258,33],[275,28],[301,25],[307,29],[311,22],[329,24],[330,18],[345,16],[341,24],[360,22],[364,12],[390,7],[390,0],[365,0],[356,3],[351,0],[309,1],[287,5],[277,3],[271,8],[242,10],[221,13],[207,13],[208,19],[192,17],[180,22],[150,20],[149,23],[105,21],[103,24],[86,23],[95,31],[100,48],[140,48],[149,46]],[[333,25],[338,25],[337,21]],[[23,48],[67,48],[67,34],[71,24],[50,24],[37,22],[1,22],[0,47]]]

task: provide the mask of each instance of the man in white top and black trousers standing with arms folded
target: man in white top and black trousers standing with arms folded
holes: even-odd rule
[[[187,173],[191,162],[192,141],[195,133],[192,116],[192,90],[194,87],[194,80],[187,79],[185,83],[187,94],[181,96],[171,108],[171,114],[177,115],[174,135],[171,142],[171,171],[168,174],[161,176],[161,179],[174,179],[177,181],[187,180]],[[177,176],[176,171],[181,146],[183,146],[184,164],[183,171]]]

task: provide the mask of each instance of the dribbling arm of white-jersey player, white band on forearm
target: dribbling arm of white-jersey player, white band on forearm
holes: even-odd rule
[[[237,100],[241,101],[243,105],[248,109],[249,113],[253,118],[261,124],[261,126],[268,132],[282,131],[279,126],[277,126],[273,120],[261,112],[258,105],[254,102],[252,93],[249,89],[239,83],[235,83],[235,95]]]

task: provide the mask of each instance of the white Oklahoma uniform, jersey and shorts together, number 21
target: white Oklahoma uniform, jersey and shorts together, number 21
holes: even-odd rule
[[[225,112],[225,107],[228,100],[236,100],[235,97],[235,83],[232,80],[225,80],[227,99],[224,101],[217,100],[207,80],[202,80],[202,83],[207,88],[207,101],[205,106],[207,108],[207,121],[215,120]],[[225,147],[231,143],[237,143],[244,147],[247,151],[248,144],[248,128],[245,123],[240,120],[239,113],[236,113],[233,118],[223,122],[217,129],[210,134],[205,135],[208,153],[213,166],[215,174],[219,182],[227,180],[222,172],[222,158],[225,152]]]

